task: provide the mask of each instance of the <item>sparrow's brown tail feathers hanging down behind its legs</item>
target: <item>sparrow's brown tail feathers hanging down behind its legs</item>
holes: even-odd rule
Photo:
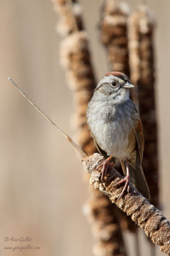
[[[126,161],[120,161],[122,165],[122,170],[126,175]],[[135,168],[129,163],[129,175],[130,182],[132,186],[134,186],[138,191],[145,196],[148,200],[150,200],[150,190],[148,188],[148,184],[145,179],[145,175],[143,173],[143,168],[141,164],[136,163]]]

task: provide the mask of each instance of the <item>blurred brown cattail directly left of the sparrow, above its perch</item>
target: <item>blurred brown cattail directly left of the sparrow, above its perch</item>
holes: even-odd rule
[[[87,127],[86,111],[96,82],[90,63],[88,38],[85,31],[75,32],[62,41],[60,60],[62,67],[66,70],[67,83],[74,92],[77,110],[73,123],[77,131],[78,145],[87,154],[92,154],[96,151],[96,147]]]

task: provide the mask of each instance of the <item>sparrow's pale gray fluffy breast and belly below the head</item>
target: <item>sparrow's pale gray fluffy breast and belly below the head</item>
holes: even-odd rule
[[[89,106],[87,122],[97,144],[108,155],[124,160],[130,158],[136,139],[134,125],[138,116],[133,103],[120,106]]]

